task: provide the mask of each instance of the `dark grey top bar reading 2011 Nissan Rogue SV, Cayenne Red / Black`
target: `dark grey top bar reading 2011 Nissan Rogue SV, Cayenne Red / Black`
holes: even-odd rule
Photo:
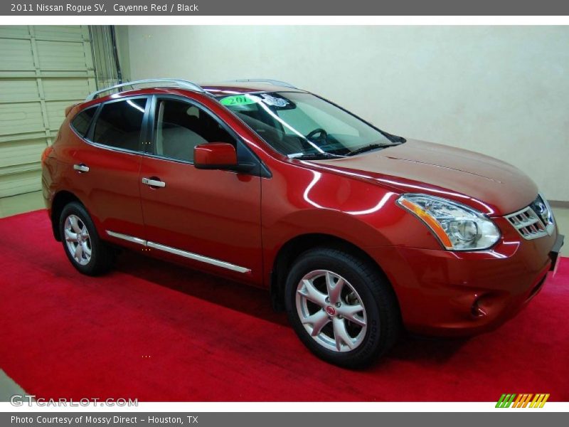
[[[566,0],[7,0],[4,16],[559,16]]]

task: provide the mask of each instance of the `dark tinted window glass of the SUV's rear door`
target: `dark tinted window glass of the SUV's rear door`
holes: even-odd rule
[[[95,122],[93,141],[138,151],[146,105],[146,98],[104,104]]]

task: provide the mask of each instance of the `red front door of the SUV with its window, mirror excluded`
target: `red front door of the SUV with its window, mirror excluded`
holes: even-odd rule
[[[258,160],[203,105],[173,96],[156,96],[153,105],[151,147],[142,160],[139,177],[151,251],[237,280],[260,283],[261,178],[196,169],[193,147],[228,142],[236,147],[240,159]]]

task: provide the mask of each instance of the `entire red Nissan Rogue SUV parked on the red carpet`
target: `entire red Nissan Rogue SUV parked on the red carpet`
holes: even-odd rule
[[[563,245],[510,164],[391,135],[287,83],[142,80],[66,116],[43,196],[75,268],[104,273],[121,246],[268,288],[341,366],[376,359],[402,327],[500,325]]]

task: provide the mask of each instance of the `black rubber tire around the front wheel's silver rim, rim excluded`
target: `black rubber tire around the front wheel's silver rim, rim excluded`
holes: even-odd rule
[[[366,309],[368,327],[366,337],[356,349],[349,352],[331,351],[322,347],[304,329],[297,312],[296,293],[302,277],[313,270],[330,270],[341,275],[358,292]],[[308,251],[297,258],[287,277],[285,305],[289,321],[301,341],[321,359],[341,367],[364,367],[383,354],[393,341],[387,336],[387,327],[389,322],[394,322],[396,309],[390,307],[393,302],[389,301],[388,292],[383,292],[382,288],[386,285],[373,268],[347,253],[328,249]]]

